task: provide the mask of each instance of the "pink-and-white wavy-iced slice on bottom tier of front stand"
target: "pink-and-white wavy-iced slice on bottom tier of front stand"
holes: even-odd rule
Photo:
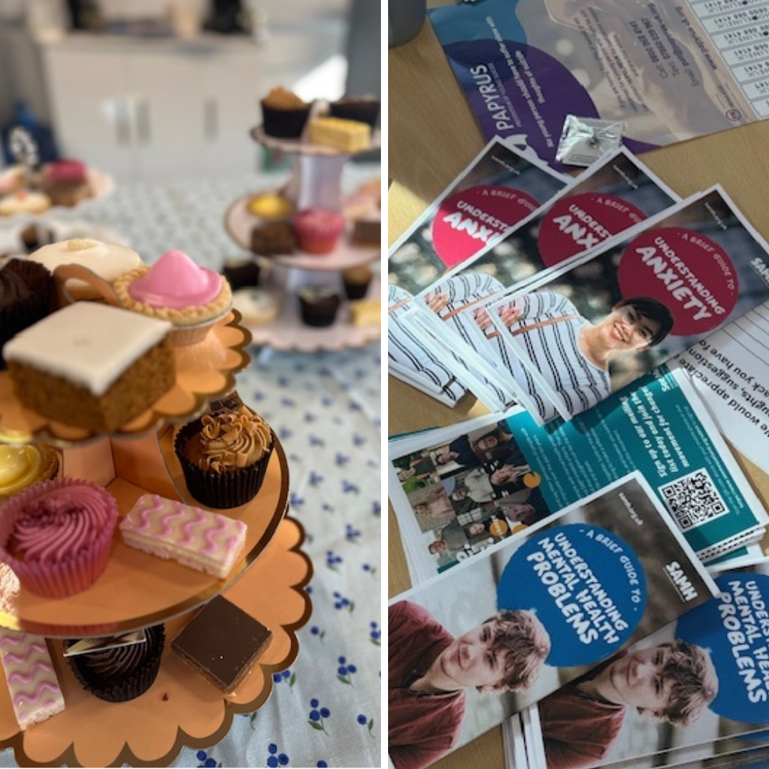
[[[0,661],[22,729],[64,710],[64,696],[45,638],[0,629]]]

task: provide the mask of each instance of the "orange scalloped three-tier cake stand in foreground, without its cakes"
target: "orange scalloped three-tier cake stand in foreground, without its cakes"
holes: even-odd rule
[[[248,365],[250,341],[233,311],[205,341],[177,348],[175,387],[110,435],[89,434],[28,411],[2,372],[0,441],[56,444],[65,476],[105,486],[121,514],[145,492],[199,505],[188,494],[173,451],[175,430],[235,388],[235,374]],[[0,747],[12,747],[22,766],[165,766],[181,747],[220,741],[235,714],[255,711],[267,700],[272,674],[295,660],[296,631],[310,615],[303,589],[311,577],[311,563],[301,551],[304,531],[286,517],[287,510],[288,465],[275,438],[257,496],[239,508],[217,511],[248,526],[244,554],[225,579],[128,548],[118,531],[104,574],[70,598],[40,598],[0,564],[0,627],[49,639],[66,702],[61,713],[21,731],[0,667]],[[171,640],[193,611],[218,594],[272,631],[267,649],[234,694],[222,694],[171,651]],[[109,703],[89,694],[62,656],[64,638],[160,623],[165,624],[166,644],[158,677],[134,700]]]

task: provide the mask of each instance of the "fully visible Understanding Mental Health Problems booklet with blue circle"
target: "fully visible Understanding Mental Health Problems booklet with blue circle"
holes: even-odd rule
[[[388,607],[388,751],[421,767],[691,611],[714,581],[640,474]]]

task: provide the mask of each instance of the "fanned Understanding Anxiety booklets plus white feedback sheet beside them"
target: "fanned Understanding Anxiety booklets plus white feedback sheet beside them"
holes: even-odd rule
[[[514,158],[526,173],[496,170]],[[763,461],[769,247],[718,186],[682,201],[625,148],[564,184],[495,139],[393,245],[388,283],[390,372],[445,404],[571,419],[679,356]]]

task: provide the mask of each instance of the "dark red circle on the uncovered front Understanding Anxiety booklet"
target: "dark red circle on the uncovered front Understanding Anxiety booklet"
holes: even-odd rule
[[[650,296],[670,308],[674,336],[712,331],[729,317],[739,293],[737,272],[723,248],[682,227],[634,238],[617,279],[624,298]]]

